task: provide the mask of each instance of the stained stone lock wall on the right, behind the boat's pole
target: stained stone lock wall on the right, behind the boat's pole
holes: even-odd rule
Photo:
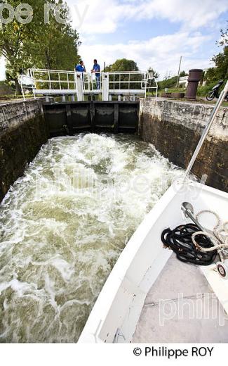
[[[141,99],[139,133],[163,156],[187,168],[212,111],[206,104]],[[220,108],[192,173],[199,178],[206,174],[207,185],[228,191],[228,108]]]

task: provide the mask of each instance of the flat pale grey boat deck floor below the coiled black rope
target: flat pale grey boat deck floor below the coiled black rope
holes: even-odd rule
[[[133,343],[227,341],[228,317],[206,277],[171,255],[149,290]]]

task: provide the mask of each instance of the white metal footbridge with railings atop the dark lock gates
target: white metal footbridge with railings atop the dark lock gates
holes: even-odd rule
[[[137,96],[146,97],[154,92],[157,97],[158,84],[152,72],[100,72],[100,80],[90,72],[65,70],[29,69],[27,75],[20,76],[20,85],[25,99],[29,90],[37,96],[70,96],[72,101],[84,101],[85,96],[100,95],[102,101],[112,101],[118,96],[121,101],[135,101]]]

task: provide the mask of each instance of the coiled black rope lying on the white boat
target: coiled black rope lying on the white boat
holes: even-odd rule
[[[185,263],[196,265],[210,265],[215,261],[217,251],[204,253],[194,246],[192,234],[200,232],[201,229],[194,224],[180,225],[174,230],[166,229],[161,234],[161,241],[166,248],[173,249],[177,258]],[[211,248],[213,244],[206,236],[199,234],[197,242],[203,248]]]

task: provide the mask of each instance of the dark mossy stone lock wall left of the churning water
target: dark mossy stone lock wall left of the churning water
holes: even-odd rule
[[[0,105],[0,202],[47,140],[41,100]]]

